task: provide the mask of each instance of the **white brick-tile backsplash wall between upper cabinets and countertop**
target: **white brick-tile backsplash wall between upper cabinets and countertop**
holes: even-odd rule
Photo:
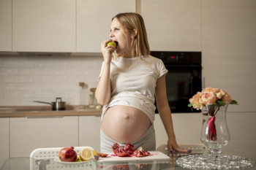
[[[96,88],[102,55],[19,56],[0,55],[0,106],[45,105],[55,101],[79,104],[79,82]]]

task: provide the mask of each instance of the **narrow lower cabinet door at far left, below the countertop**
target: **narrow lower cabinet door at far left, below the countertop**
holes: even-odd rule
[[[10,157],[9,152],[9,118],[0,118],[0,167]]]

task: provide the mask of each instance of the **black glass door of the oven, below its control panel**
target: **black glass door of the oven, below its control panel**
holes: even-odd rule
[[[171,112],[200,112],[200,110],[192,110],[187,105],[189,98],[202,90],[202,67],[200,65],[165,65],[165,67],[168,70],[165,81]]]

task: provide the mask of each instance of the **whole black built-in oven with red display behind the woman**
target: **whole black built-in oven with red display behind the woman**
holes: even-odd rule
[[[160,58],[168,70],[165,79],[171,112],[200,112],[196,109],[192,111],[187,104],[189,98],[202,90],[202,53],[151,51],[151,55]]]

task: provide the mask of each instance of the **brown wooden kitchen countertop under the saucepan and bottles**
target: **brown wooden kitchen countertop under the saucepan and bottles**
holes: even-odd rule
[[[0,117],[56,117],[56,116],[100,116],[102,108],[79,109],[78,106],[66,106],[66,110],[53,111],[45,106],[0,107]]]

